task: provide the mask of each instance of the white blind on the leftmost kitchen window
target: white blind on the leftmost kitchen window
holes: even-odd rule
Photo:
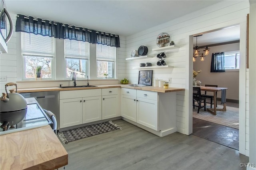
[[[54,57],[54,38],[22,32],[22,54]]]

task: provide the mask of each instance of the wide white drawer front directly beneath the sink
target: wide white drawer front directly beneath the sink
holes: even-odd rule
[[[101,89],[60,91],[60,99],[101,96]]]

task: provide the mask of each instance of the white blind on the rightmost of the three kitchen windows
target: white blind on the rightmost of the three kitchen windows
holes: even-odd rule
[[[97,60],[115,61],[115,47],[97,44],[96,56]]]

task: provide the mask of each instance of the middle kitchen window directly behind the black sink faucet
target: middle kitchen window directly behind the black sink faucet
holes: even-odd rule
[[[66,78],[76,72],[77,78],[88,75],[89,43],[65,39]]]

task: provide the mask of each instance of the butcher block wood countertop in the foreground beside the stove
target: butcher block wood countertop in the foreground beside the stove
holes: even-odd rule
[[[47,125],[0,136],[2,170],[55,170],[68,164],[68,153]]]

